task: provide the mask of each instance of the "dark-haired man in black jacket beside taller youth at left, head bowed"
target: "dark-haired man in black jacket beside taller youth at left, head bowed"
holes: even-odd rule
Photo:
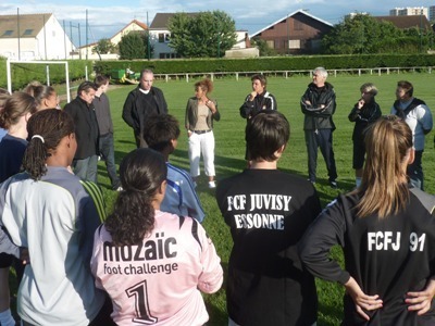
[[[74,120],[77,151],[75,152],[74,173],[83,180],[97,183],[98,165],[98,122],[92,100],[97,86],[84,82],[78,86],[77,97],[64,108]]]

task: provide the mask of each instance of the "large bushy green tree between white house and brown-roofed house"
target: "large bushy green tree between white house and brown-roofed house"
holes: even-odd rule
[[[234,20],[223,11],[176,13],[169,22],[169,46],[184,58],[220,58],[236,43]]]

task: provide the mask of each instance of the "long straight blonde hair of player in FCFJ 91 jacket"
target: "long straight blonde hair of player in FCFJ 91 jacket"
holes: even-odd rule
[[[358,216],[377,214],[380,218],[402,211],[409,200],[403,161],[412,149],[412,131],[396,115],[386,115],[371,125],[365,135],[366,161]]]

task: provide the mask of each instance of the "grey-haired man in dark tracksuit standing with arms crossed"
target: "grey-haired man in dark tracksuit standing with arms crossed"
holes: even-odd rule
[[[337,168],[333,151],[335,91],[334,87],[326,82],[327,71],[324,67],[316,67],[312,78],[313,82],[308,85],[300,100],[302,113],[306,115],[303,130],[308,151],[308,177],[311,183],[315,183],[318,148],[320,147],[325,159],[330,186],[337,188]]]

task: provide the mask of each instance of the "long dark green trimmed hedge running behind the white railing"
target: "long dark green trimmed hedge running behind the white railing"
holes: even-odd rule
[[[112,70],[130,68],[140,72],[151,68],[156,74],[306,71],[315,66],[328,70],[371,67],[434,66],[433,54],[370,54],[370,55],[298,55],[251,59],[191,59],[156,61],[99,61],[97,73],[110,74]]]

